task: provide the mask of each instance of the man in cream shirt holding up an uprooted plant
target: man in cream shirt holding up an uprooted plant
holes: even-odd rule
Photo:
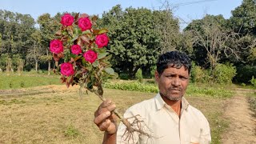
[[[210,143],[208,121],[183,98],[190,81],[190,70],[190,58],[186,54],[171,51],[160,55],[155,72],[159,93],[126,110],[125,118],[136,115],[142,118],[143,122],[139,127],[143,126],[143,130],[150,133],[151,138],[138,132],[129,137],[125,134],[126,126],[121,122],[118,127],[111,116],[110,111],[115,109],[114,103],[110,100],[102,102],[95,112],[94,123],[105,131],[103,143]]]

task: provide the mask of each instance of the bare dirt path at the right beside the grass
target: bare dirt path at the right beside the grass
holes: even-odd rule
[[[256,118],[250,110],[245,92],[236,90],[234,98],[226,102],[224,115],[230,121],[230,128],[223,134],[222,143],[256,143]]]

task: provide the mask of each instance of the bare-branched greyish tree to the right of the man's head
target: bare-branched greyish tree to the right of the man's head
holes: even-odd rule
[[[193,34],[195,57],[204,58],[214,70],[222,58],[234,55],[238,58],[239,35],[226,29],[226,20],[222,15],[206,15],[186,27]]]

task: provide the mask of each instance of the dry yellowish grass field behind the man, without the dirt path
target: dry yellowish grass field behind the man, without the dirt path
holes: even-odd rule
[[[41,86],[9,91],[0,93],[0,143],[102,142],[103,133],[93,122],[94,110],[101,103],[96,95],[89,93],[79,97],[77,86],[70,89],[66,86]],[[106,98],[113,99],[122,114],[134,103],[154,95],[105,89]],[[212,143],[219,143],[220,135],[227,126],[222,118],[225,98],[191,95],[187,99],[206,115]]]

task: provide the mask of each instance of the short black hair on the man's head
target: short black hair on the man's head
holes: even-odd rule
[[[185,70],[191,70],[191,61],[190,58],[179,51],[169,51],[165,54],[161,54],[157,61],[157,71],[161,75],[164,70],[168,67],[181,68],[185,67]]]

